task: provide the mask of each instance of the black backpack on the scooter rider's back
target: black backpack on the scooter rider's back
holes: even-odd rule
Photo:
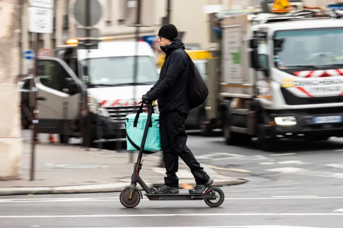
[[[188,95],[189,95],[189,110],[191,110],[200,106],[202,103],[204,103],[204,101],[206,100],[208,96],[208,88],[204,79],[202,79],[200,73],[196,69],[192,59],[189,57],[187,53],[186,55],[188,57],[188,63],[189,63]]]

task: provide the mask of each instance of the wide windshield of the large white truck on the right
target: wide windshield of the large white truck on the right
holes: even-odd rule
[[[275,38],[284,38],[274,56],[279,69],[343,64],[343,28],[278,31]]]

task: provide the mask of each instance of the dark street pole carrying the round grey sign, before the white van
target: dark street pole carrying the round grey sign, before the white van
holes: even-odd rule
[[[85,13],[85,21],[86,21],[86,38],[90,38],[90,0],[86,0],[86,13]],[[89,59],[88,59],[88,53],[89,53],[89,49],[88,49],[88,45],[86,46],[86,50],[87,50],[87,54],[86,54],[86,68],[87,68],[87,72],[88,72],[88,76],[89,76]],[[88,88],[88,84],[87,82],[85,83],[86,84],[86,88]],[[85,92],[85,104],[86,104],[86,120],[85,120],[85,135],[84,135],[84,146],[86,147],[86,151],[89,151],[89,147],[90,147],[90,140],[91,140],[91,137],[90,137],[90,116],[89,116],[89,107],[88,107],[88,91],[86,89],[86,92]]]

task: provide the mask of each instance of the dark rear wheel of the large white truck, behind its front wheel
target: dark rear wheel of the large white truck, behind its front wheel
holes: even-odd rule
[[[231,131],[232,124],[230,115],[226,115],[226,118],[223,119],[223,122],[224,137],[227,145],[238,146],[247,145],[249,143],[251,140],[249,135]]]

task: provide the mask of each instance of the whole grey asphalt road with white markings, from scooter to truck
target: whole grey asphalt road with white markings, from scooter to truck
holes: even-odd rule
[[[254,142],[232,147],[222,137],[189,134],[187,145],[200,163],[249,182],[223,187],[219,208],[145,199],[126,209],[119,193],[0,197],[0,227],[343,227],[343,212],[337,212],[343,209],[342,139],[281,141],[280,152],[262,152]]]

